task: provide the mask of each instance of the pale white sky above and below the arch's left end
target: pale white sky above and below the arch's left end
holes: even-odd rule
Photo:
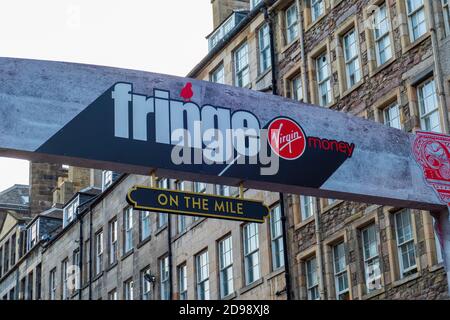
[[[185,76],[206,54],[210,0],[1,0],[0,57]],[[0,158],[0,191],[28,162]]]

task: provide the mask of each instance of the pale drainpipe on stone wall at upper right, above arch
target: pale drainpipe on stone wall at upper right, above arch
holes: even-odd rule
[[[429,10],[429,21],[430,21],[430,32],[431,32],[431,44],[433,47],[434,53],[434,73],[436,79],[436,89],[437,95],[439,99],[439,104],[442,107],[442,113],[444,116],[444,132],[449,133],[449,116],[448,116],[448,108],[447,108],[447,99],[445,98],[445,90],[444,90],[444,77],[442,74],[441,68],[441,53],[439,51],[439,40],[436,30],[436,19],[434,15],[434,1],[431,0],[430,10]]]

